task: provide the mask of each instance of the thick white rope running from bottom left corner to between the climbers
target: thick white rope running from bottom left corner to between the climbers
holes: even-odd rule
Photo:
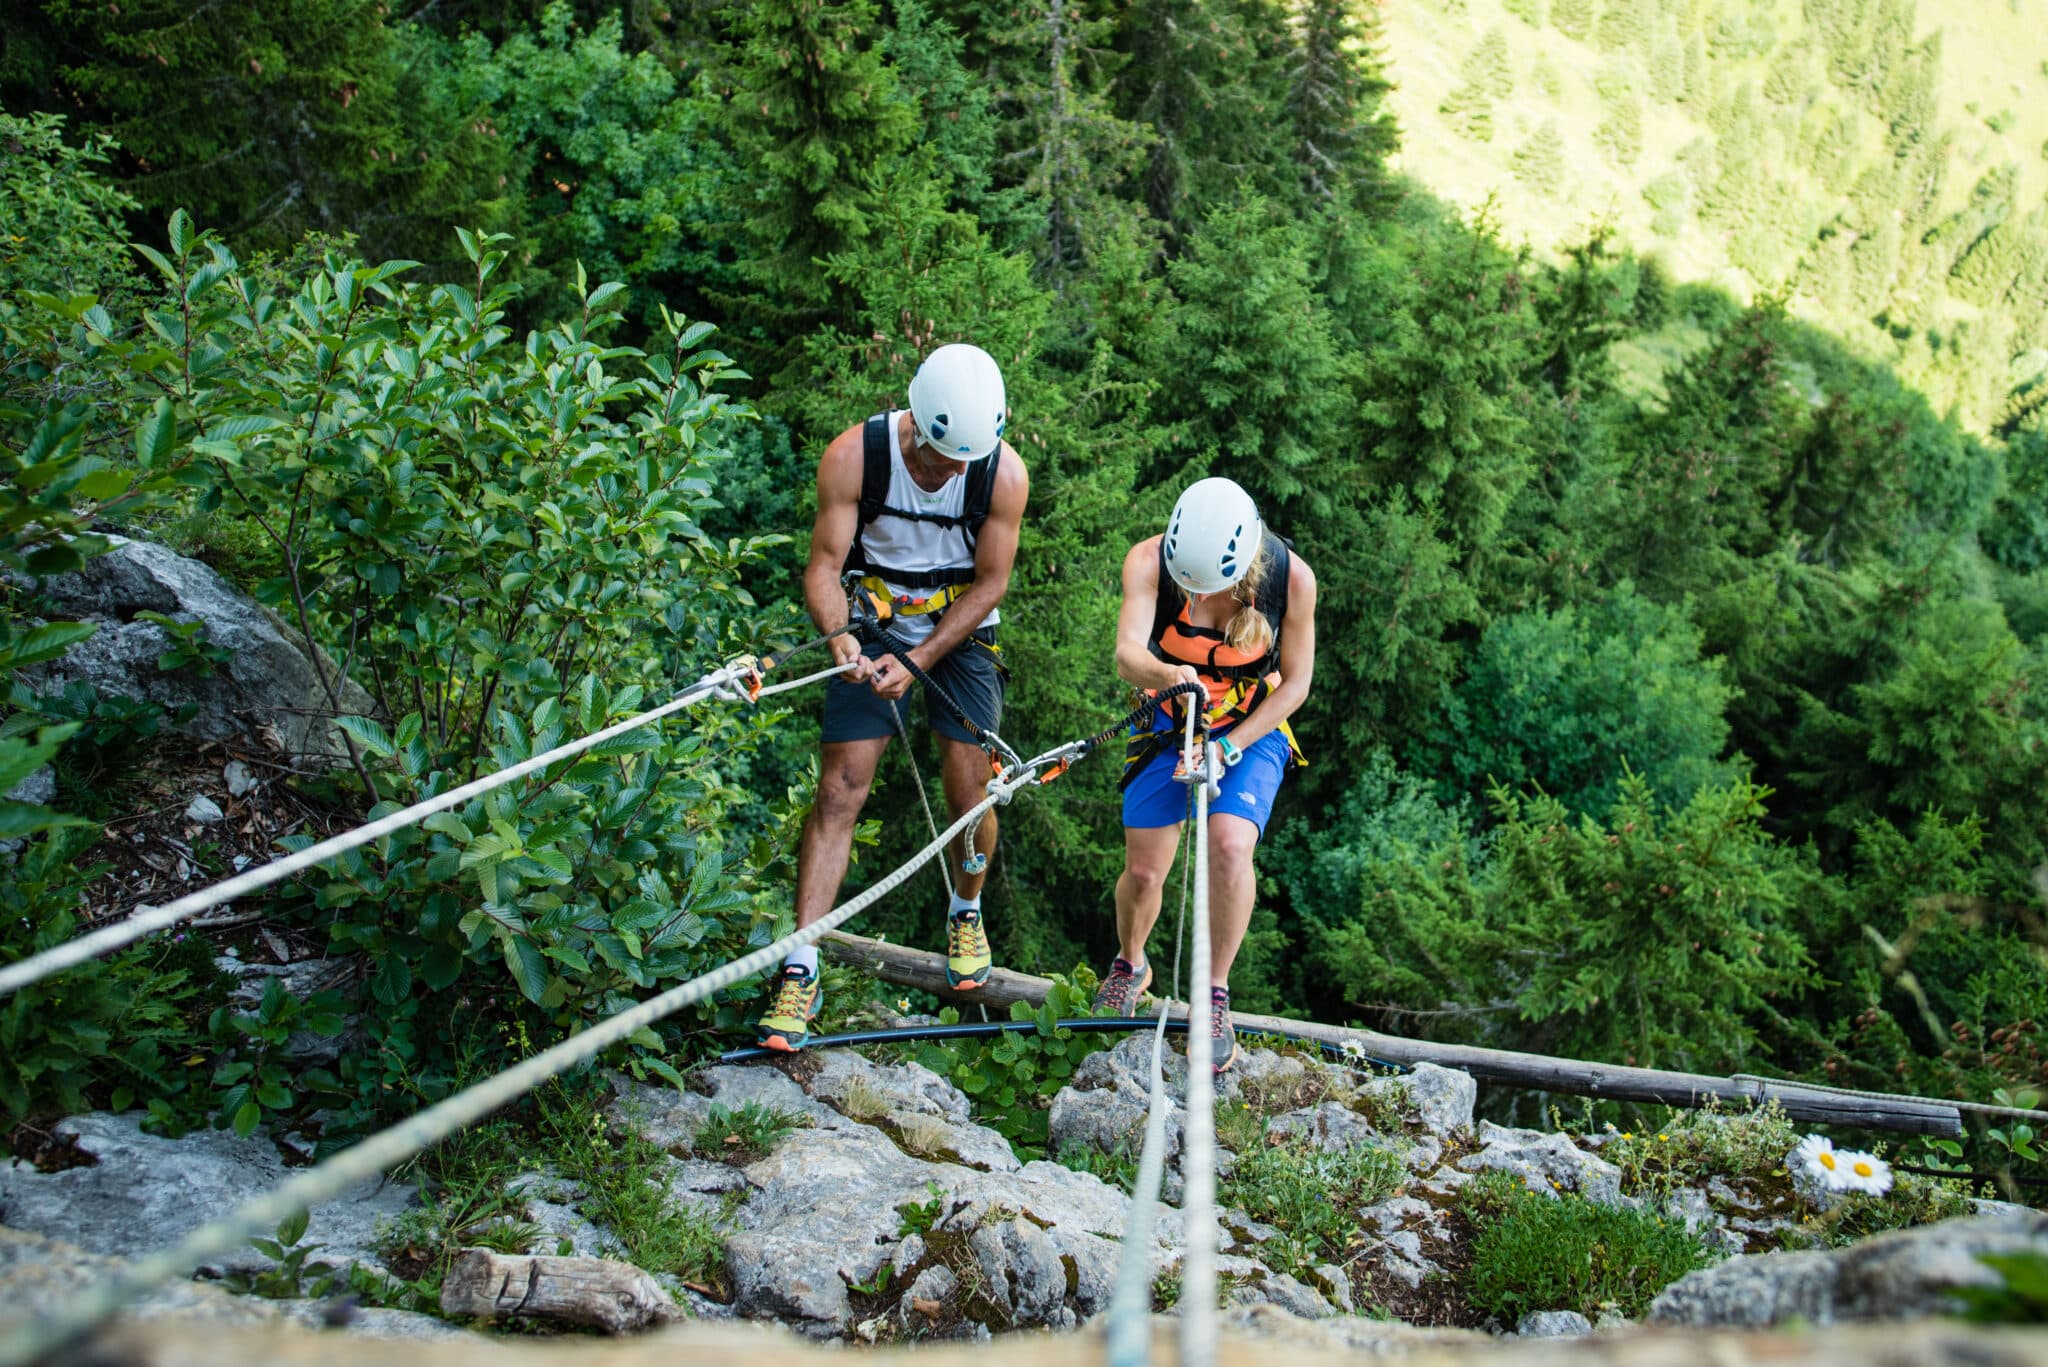
[[[915,857],[883,877],[879,883],[827,912],[819,920],[813,920],[809,926],[793,930],[776,943],[764,945],[741,959],[733,959],[725,967],[717,967],[702,978],[692,978],[690,982],[678,984],[637,1006],[629,1006],[627,1010],[621,1010],[618,1014],[608,1017],[578,1035],[569,1035],[541,1053],[535,1053],[532,1058],[428,1107],[426,1111],[406,1117],[389,1129],[377,1131],[360,1144],[342,1150],[334,1158],[305,1168],[264,1195],[246,1201],[227,1215],[193,1230],[174,1246],[160,1248],[158,1252],[129,1262],[109,1281],[72,1299],[61,1312],[10,1328],[6,1336],[0,1338],[0,1367],[33,1363],[47,1353],[70,1344],[80,1334],[86,1334],[113,1318],[125,1303],[143,1291],[176,1277],[184,1277],[209,1258],[242,1248],[250,1238],[268,1234],[295,1211],[317,1205],[319,1201],[332,1201],[356,1183],[373,1178],[379,1172],[385,1172],[387,1168],[424,1152],[465,1125],[483,1119],[498,1107],[524,1096],[549,1078],[557,1078],[578,1064],[596,1058],[606,1047],[674,1014],[690,1002],[700,1002],[713,992],[774,967],[788,957],[793,949],[815,943],[827,930],[838,928],[858,912],[895,892],[903,879],[922,869],[934,855],[944,851],[946,840],[961,834],[969,822],[979,820],[989,807],[1010,801],[1018,789],[1032,783],[1036,783],[1036,769],[1032,767],[1020,769],[1014,779],[991,781],[989,795],[983,797],[973,810],[965,812],[942,838],[926,844]]]

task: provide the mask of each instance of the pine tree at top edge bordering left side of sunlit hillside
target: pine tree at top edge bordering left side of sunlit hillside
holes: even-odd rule
[[[1311,203],[1366,209],[1389,195],[1386,158],[1399,146],[1386,92],[1356,0],[1303,0],[1294,10],[1288,121]]]

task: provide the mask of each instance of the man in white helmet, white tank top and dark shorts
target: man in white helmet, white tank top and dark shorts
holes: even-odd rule
[[[891,639],[862,646],[840,635],[831,650],[854,664],[825,691],[817,799],[797,855],[797,924],[831,910],[846,877],[854,822],[874,781],[889,736],[907,713],[911,674],[895,650],[932,676],[983,732],[997,730],[1004,666],[995,644],[997,605],[1010,588],[1030,480],[1006,443],[1010,408],[1004,375],[979,346],[940,346],[909,383],[909,408],[874,414],[840,432],[817,463],[817,519],[803,594],[821,631],[846,625],[844,574],[893,609]],[[952,816],[985,795],[989,756],[938,699],[926,699],[938,732],[946,803]],[[946,914],[946,982],[979,988],[991,955],[981,924],[985,857],[995,848],[995,814],[977,851],[948,848],[952,906]],[[981,855],[969,863],[971,855]],[[817,1014],[817,949],[799,949],[782,967],[756,1035],[770,1049],[801,1049]]]

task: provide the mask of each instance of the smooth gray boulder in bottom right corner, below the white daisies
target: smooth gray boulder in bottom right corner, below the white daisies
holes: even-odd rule
[[[1786,1320],[1915,1320],[1954,1308],[1950,1291],[1999,1285],[1987,1252],[2048,1254],[2048,1215],[2017,1211],[1896,1230],[1837,1250],[1761,1252],[1688,1273],[1651,1303],[1661,1324],[1763,1326]]]

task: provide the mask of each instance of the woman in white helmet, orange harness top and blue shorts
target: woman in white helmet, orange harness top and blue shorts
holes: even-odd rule
[[[1274,797],[1305,762],[1288,715],[1315,678],[1315,574],[1266,529],[1251,494],[1231,480],[1200,480],[1174,504],[1165,533],[1124,555],[1124,607],[1116,621],[1116,672],[1137,689],[1200,682],[1210,736],[1223,758],[1221,795],[1208,807],[1208,937],[1214,1066],[1237,1060],[1231,961],[1251,924],[1257,851]],[[1096,1010],[1130,1014],[1153,978],[1145,941],[1159,920],[1188,787],[1176,783],[1184,715],[1194,699],[1159,709],[1124,754],[1124,873],[1116,879],[1118,955]]]

